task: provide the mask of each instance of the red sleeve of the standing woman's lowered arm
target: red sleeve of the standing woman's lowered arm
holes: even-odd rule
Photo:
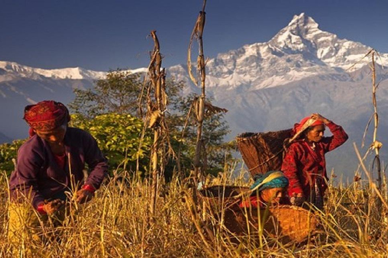
[[[299,180],[299,171],[298,171],[298,149],[296,144],[289,146],[287,152],[285,153],[283,163],[281,165],[281,170],[285,177],[287,177],[288,185],[288,196],[292,197],[294,193],[303,193],[303,188]]]

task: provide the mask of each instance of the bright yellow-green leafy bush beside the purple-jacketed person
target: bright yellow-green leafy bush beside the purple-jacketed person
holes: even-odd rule
[[[122,164],[126,169],[136,170],[137,155],[140,168],[145,169],[149,164],[150,135],[144,136],[141,149],[138,149],[143,128],[141,119],[130,114],[115,113],[88,119],[78,114],[72,115],[71,125],[89,132],[96,139],[113,169]]]

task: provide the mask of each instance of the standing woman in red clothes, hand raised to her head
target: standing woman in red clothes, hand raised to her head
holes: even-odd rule
[[[332,133],[324,137],[325,127]],[[305,117],[294,126],[295,139],[288,147],[281,170],[289,180],[288,196],[293,205],[304,202],[323,209],[327,188],[325,153],[348,140],[344,129],[318,113]]]

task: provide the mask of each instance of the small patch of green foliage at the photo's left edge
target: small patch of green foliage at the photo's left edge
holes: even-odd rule
[[[6,171],[7,174],[10,174],[14,170],[12,159],[17,159],[18,150],[25,141],[27,139],[15,140],[11,144],[0,145],[0,171]]]

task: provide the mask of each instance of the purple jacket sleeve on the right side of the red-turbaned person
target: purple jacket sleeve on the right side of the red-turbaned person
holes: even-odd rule
[[[83,137],[83,148],[85,161],[90,170],[85,184],[90,184],[95,189],[98,189],[105,176],[108,174],[107,159],[104,157],[95,139],[86,132],[84,132]]]

